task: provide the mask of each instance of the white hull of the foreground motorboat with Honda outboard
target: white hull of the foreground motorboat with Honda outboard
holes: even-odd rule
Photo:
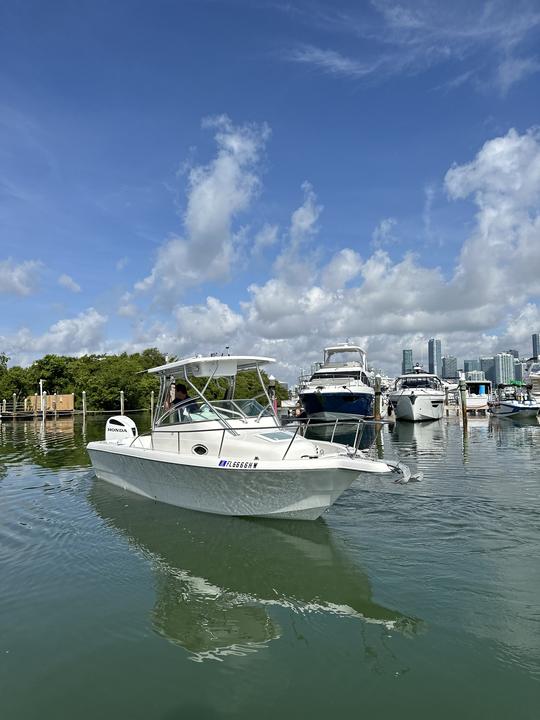
[[[313,460],[313,469],[302,467],[305,460],[282,461],[274,469],[278,463],[215,458],[205,466],[175,453],[106,442],[90,443],[88,453],[99,478],[152,500],[218,515],[302,520],[318,518],[367,462],[343,456]]]

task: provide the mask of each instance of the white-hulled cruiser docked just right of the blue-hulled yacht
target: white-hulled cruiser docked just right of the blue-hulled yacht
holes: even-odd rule
[[[439,420],[444,412],[444,399],[443,385],[437,375],[415,367],[414,372],[396,378],[389,395],[389,410],[396,420]]]

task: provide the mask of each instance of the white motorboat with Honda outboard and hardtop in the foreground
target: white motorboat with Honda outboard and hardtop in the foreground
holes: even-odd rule
[[[161,380],[152,429],[139,435],[130,418],[110,418],[105,440],[87,446],[96,475],[191,510],[314,520],[362,473],[399,471],[369,459],[356,444],[308,440],[301,426],[283,429],[261,374],[270,362],[193,357],[148,370]],[[246,370],[256,371],[266,405],[234,399],[237,373]],[[193,398],[168,407],[171,381],[178,378]],[[202,390],[195,378],[206,379]],[[208,399],[211,381],[225,383],[228,399]]]

